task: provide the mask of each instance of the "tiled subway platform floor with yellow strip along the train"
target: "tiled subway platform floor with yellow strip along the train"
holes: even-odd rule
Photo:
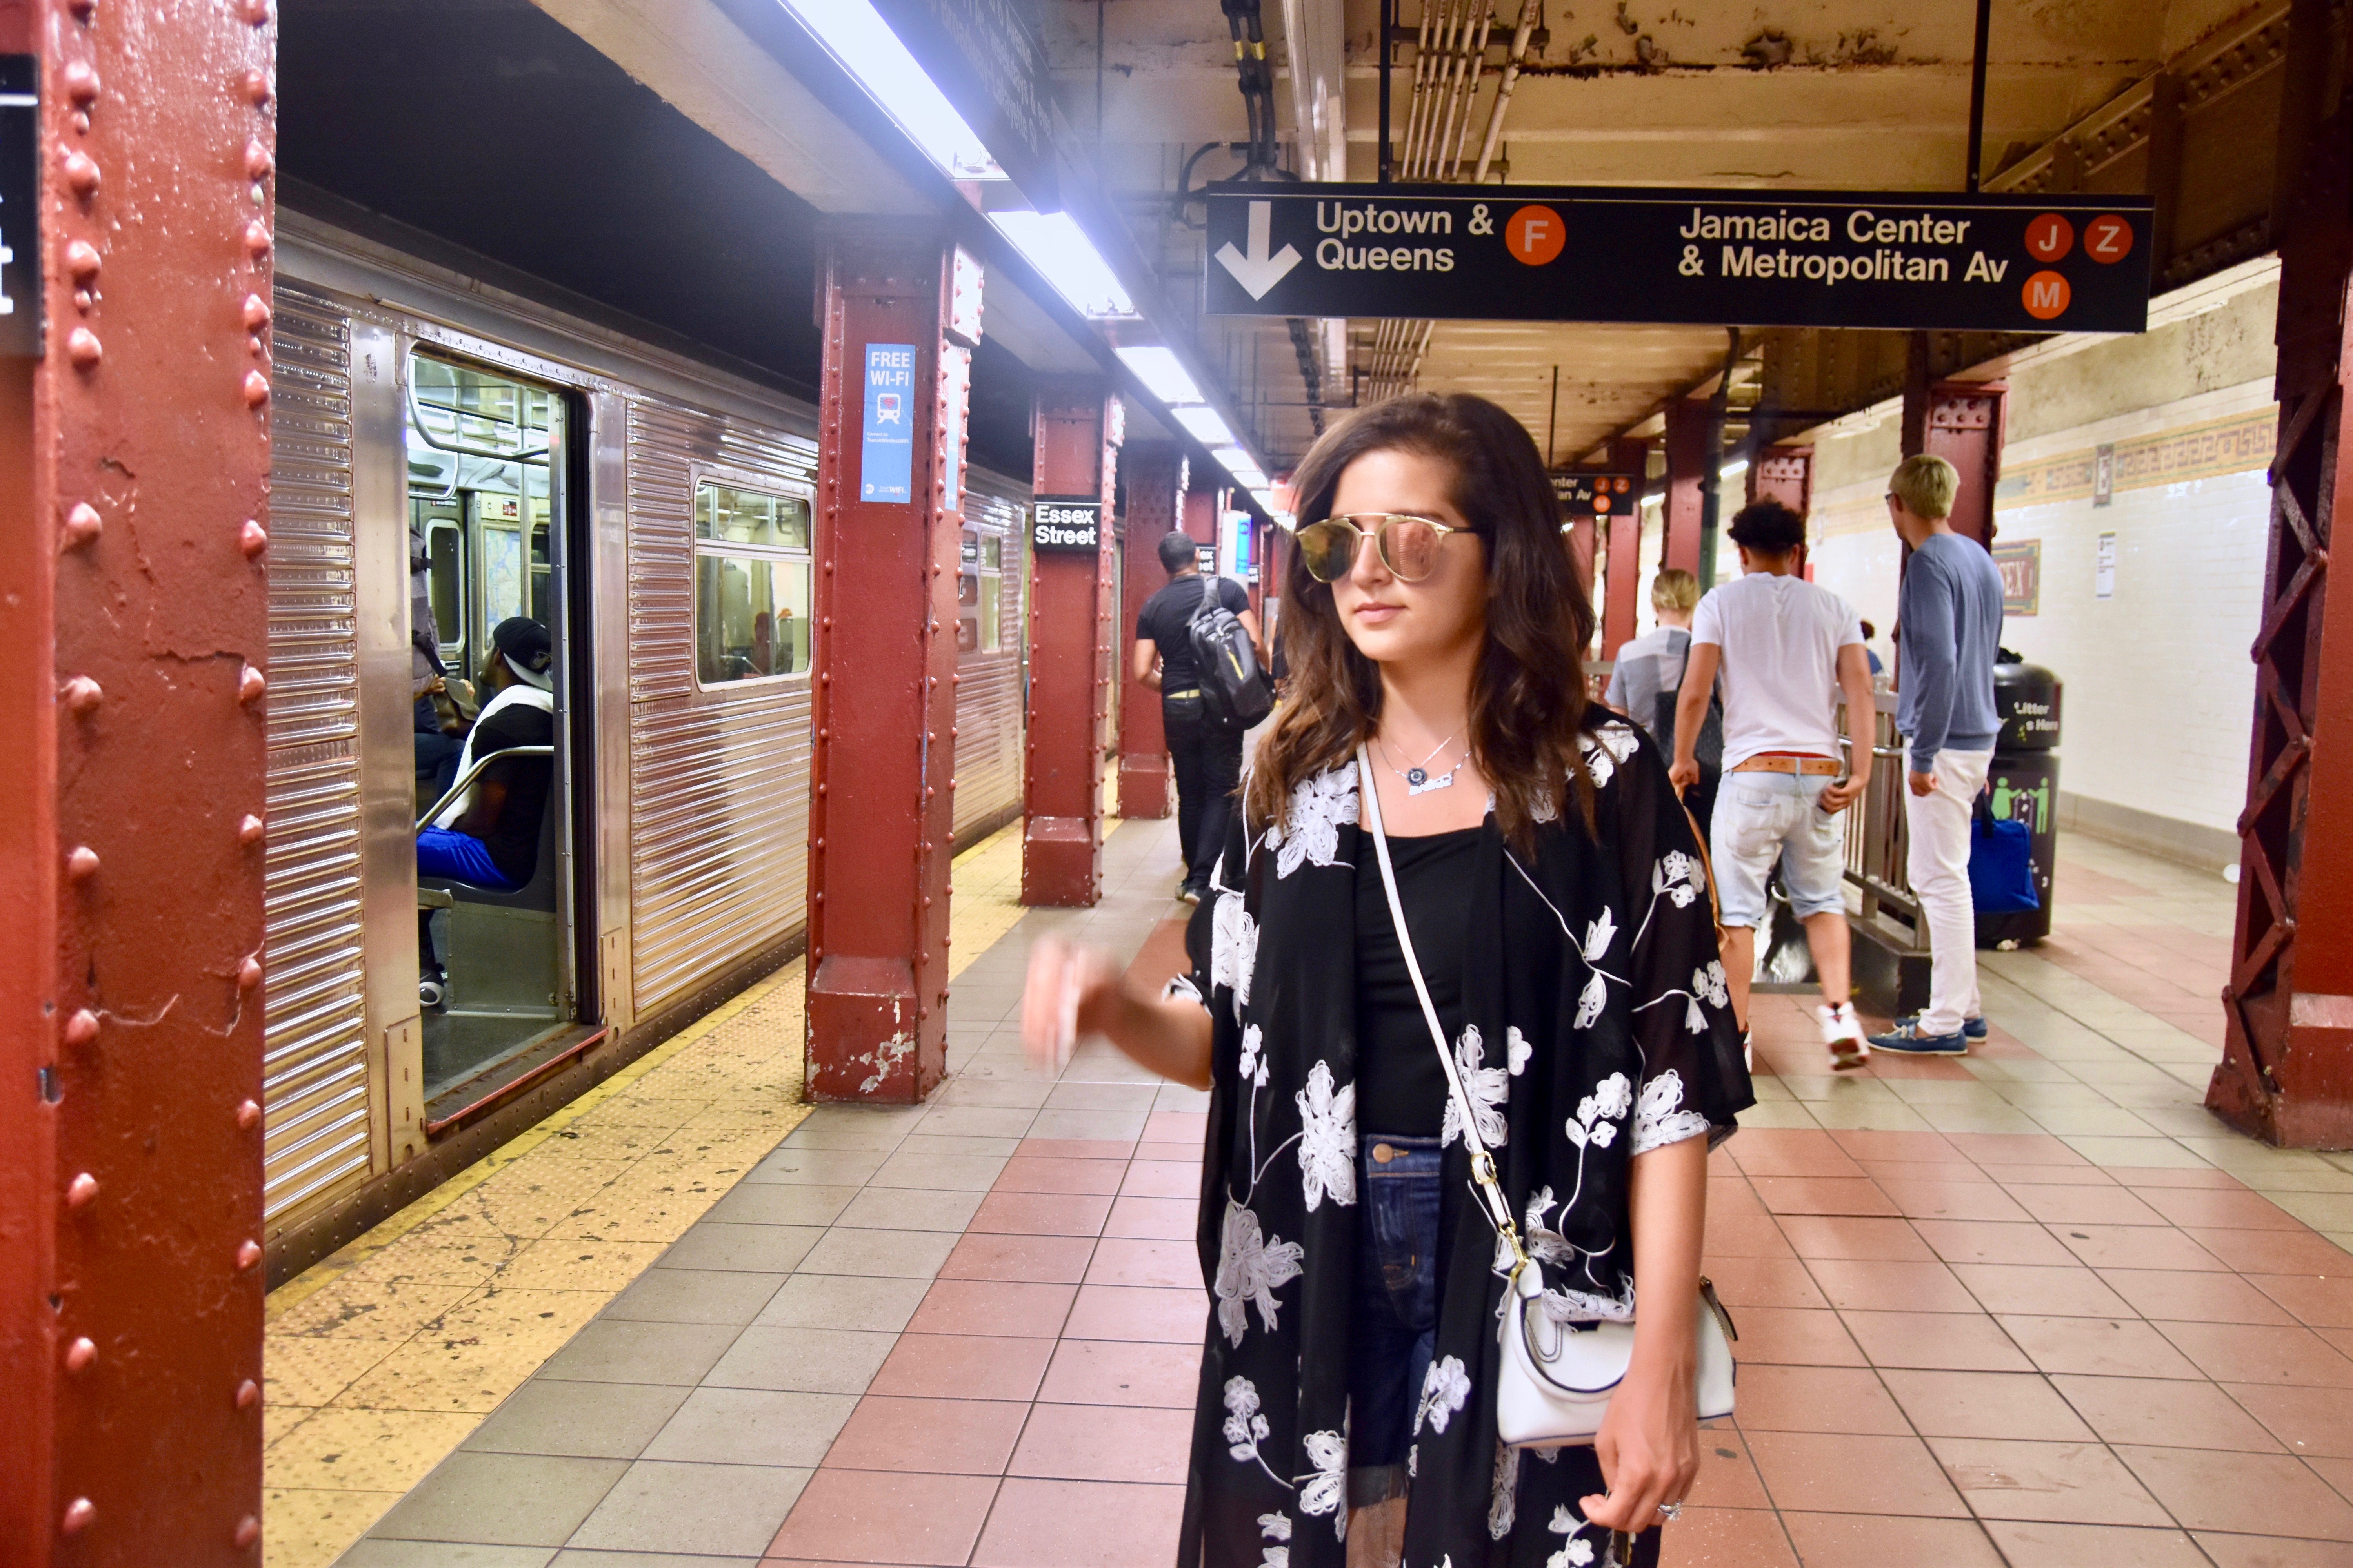
[[[925,1107],[793,1121],[786,971],[289,1284],[271,1566],[1172,1561],[1202,1095],[1016,1039],[1040,931],[1181,961],[1172,867],[1169,823],[1122,823],[1099,907],[1024,912],[1019,842],[972,851]],[[1708,1208],[1741,1413],[1668,1563],[2353,1561],[2353,1157],[2200,1107],[2228,922],[2219,877],[2068,837],[1967,1060],[1833,1079],[1802,999],[1760,999]]]

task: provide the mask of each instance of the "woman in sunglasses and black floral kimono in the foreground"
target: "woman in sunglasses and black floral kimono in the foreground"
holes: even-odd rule
[[[1179,1561],[1584,1568],[1614,1530],[1657,1561],[1699,1465],[1706,1150],[1753,1103],[1699,842],[1657,750],[1586,703],[1593,611],[1508,414],[1377,404],[1294,491],[1292,691],[1193,914],[1193,976],[1148,997],[1045,938],[1021,1016],[1040,1058],[1099,1032],[1212,1091]],[[1591,1448],[1497,1439],[1511,1253],[1466,1114],[1544,1260],[1541,1309],[1635,1321]]]

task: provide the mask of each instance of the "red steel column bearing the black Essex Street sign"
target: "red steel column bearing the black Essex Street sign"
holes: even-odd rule
[[[1101,381],[1038,390],[1035,496],[1101,501],[1094,555],[1031,550],[1031,701],[1021,903],[1085,910],[1104,896],[1104,719],[1111,646],[1111,491],[1120,402]]]

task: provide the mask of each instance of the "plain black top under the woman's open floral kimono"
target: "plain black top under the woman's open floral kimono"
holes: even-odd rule
[[[1478,835],[1478,827],[1412,839],[1388,835],[1405,926],[1447,1041],[1464,1032],[1464,945]],[[1365,1135],[1435,1138],[1447,1112],[1447,1072],[1438,1065],[1398,926],[1388,919],[1381,863],[1369,844],[1365,849],[1355,867],[1355,1124]]]

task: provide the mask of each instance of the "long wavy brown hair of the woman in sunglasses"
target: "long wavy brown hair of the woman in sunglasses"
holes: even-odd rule
[[[1497,825],[1522,851],[1537,823],[1574,792],[1593,823],[1593,780],[1579,750],[1584,649],[1593,602],[1569,564],[1560,501],[1537,442],[1504,409],[1468,393],[1409,393],[1334,425],[1299,463],[1299,527],[1332,515],[1339,477],[1367,451],[1414,451],[1454,470],[1454,510],[1487,550],[1487,646],[1471,677],[1471,757],[1494,788]],[[1245,811],[1280,823],[1292,790],[1355,755],[1381,722],[1381,672],[1355,651],[1299,559],[1282,574],[1289,698],[1259,743]]]

